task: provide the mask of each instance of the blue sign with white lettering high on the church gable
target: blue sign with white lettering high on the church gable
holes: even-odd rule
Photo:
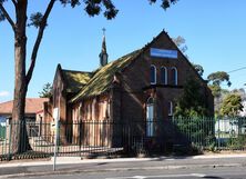
[[[177,58],[177,50],[166,50],[166,49],[155,49],[151,48],[151,56],[152,57],[162,57],[162,58]]]

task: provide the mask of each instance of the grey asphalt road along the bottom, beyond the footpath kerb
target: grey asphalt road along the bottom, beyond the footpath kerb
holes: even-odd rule
[[[95,171],[85,173],[38,176],[30,177],[28,179],[246,179],[245,169],[245,167],[225,167],[214,169],[199,168],[172,170]]]

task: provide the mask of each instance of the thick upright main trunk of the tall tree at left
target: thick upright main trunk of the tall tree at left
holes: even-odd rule
[[[17,24],[14,31],[14,96],[12,109],[12,152],[21,153],[30,149],[25,118],[25,96],[28,83],[25,77],[27,58],[27,0],[18,1]]]

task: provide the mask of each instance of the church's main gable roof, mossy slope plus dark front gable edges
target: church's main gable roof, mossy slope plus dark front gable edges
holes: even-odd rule
[[[107,63],[106,66],[99,68],[94,71],[93,77],[88,81],[88,83],[81,89],[81,91],[75,95],[70,102],[75,102],[82,98],[89,98],[99,96],[105,92],[113,81],[114,74],[116,72],[123,71],[126,67],[129,67],[141,53],[147,50],[160,37],[166,36],[168,40],[172,41],[173,46],[176,50],[183,56],[183,59],[188,63],[188,66],[195,71],[197,77],[205,82],[205,80],[198,74],[189,60],[183,54],[183,52],[176,47],[171,37],[163,30],[158,36],[153,38],[151,42],[145,44],[142,49],[133,51],[126,56],[119,58],[117,60]],[[206,83],[206,82],[205,82]]]

